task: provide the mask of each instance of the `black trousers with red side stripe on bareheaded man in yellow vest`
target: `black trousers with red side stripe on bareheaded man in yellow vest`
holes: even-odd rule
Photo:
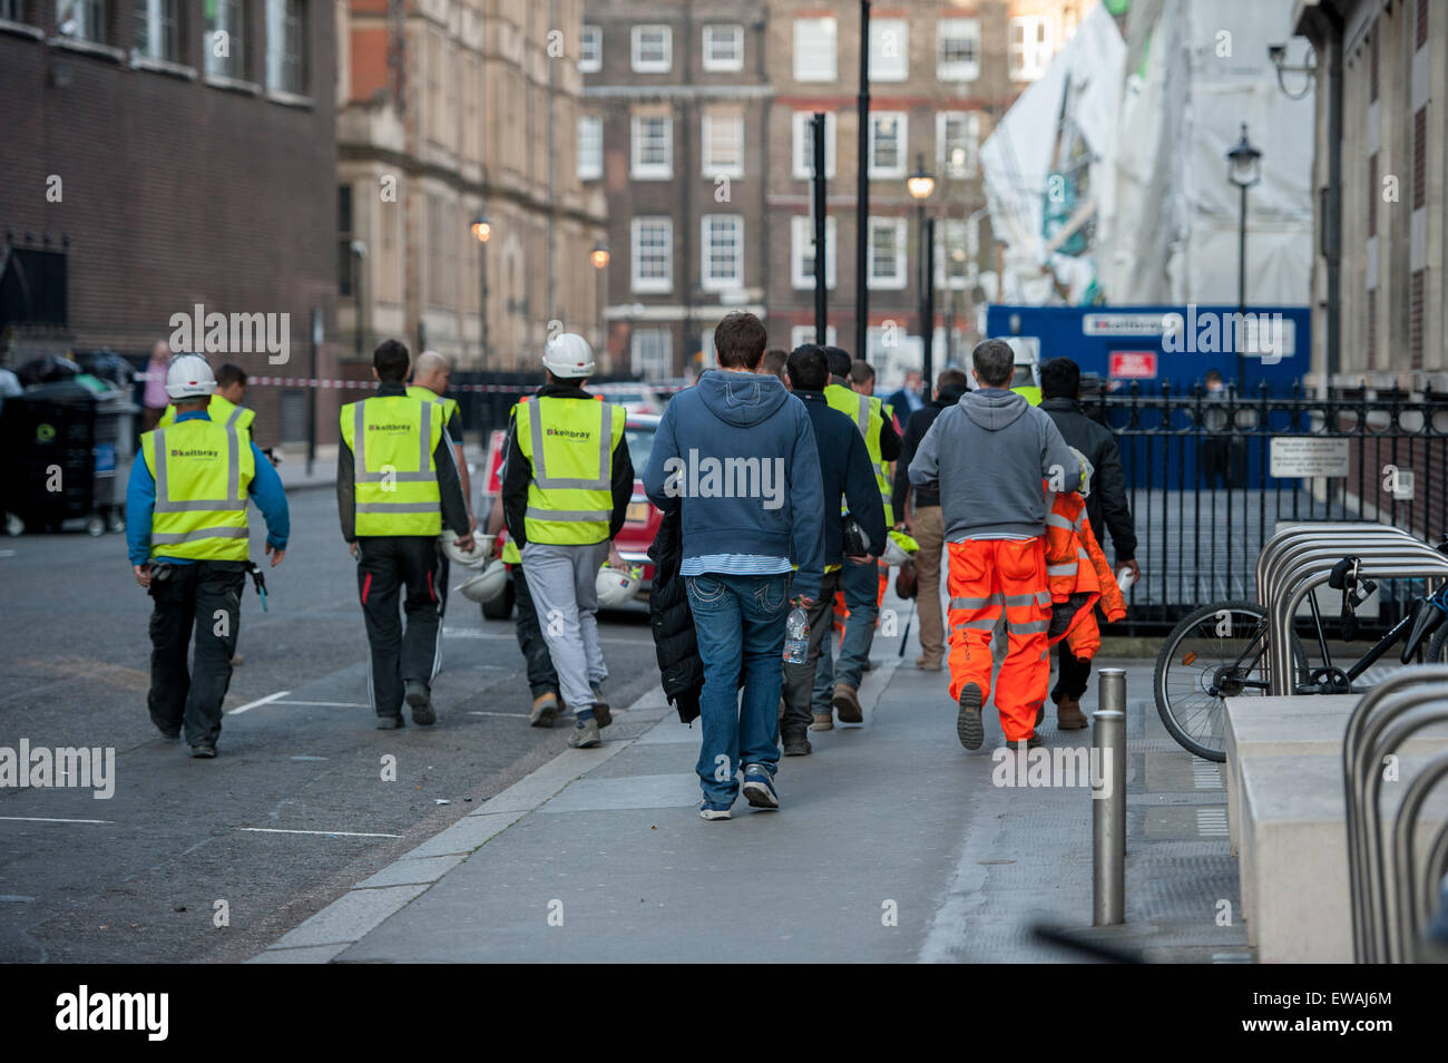
[[[378,715],[401,715],[408,682],[432,684],[440,642],[437,556],[436,536],[358,536],[358,595],[371,644],[368,695]]]

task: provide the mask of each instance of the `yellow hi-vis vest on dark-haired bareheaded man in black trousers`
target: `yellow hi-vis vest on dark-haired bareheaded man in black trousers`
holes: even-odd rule
[[[443,439],[442,407],[407,395],[378,395],[342,407],[352,448],[359,536],[437,536],[442,490],[433,452]]]

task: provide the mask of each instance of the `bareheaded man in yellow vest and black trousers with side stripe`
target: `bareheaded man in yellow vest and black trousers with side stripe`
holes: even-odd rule
[[[407,394],[407,348],[382,340],[372,355],[376,394],[342,407],[337,514],[358,560],[358,594],[371,643],[368,695],[379,730],[437,721],[432,678],[439,660],[437,536],[449,527],[472,549],[468,504],[436,403]],[[403,610],[397,613],[405,588]]]

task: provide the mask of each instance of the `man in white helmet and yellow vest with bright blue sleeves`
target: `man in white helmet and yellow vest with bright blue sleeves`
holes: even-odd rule
[[[287,492],[271,462],[230,416],[209,416],[216,377],[201,355],[167,368],[175,420],[140,437],[130,466],[126,540],[136,582],[151,592],[151,721],[191,756],[214,757],[232,682],[248,571],[246,500],[266,520],[272,568],[287,553]],[[195,660],[187,646],[195,627]]]

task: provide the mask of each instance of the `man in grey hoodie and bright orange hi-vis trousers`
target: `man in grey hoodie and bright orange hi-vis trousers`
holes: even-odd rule
[[[990,697],[990,634],[1006,620],[1009,649],[995,704],[1008,743],[1041,744],[1051,679],[1047,630],[1045,492],[1076,491],[1080,463],[1051,419],[1009,390],[1015,355],[998,339],[972,352],[976,382],[943,410],[909,466],[911,484],[940,491],[950,555],[950,697],[956,734],[980,749]]]

